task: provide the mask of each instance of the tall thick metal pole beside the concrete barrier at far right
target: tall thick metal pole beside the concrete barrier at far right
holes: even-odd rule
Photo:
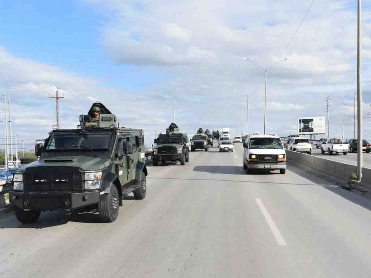
[[[357,150],[357,180],[362,179],[363,130],[362,130],[362,89],[361,89],[361,0],[358,0],[357,20],[357,109],[358,109],[358,150]]]

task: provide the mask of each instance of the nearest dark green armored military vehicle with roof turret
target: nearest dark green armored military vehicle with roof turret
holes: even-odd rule
[[[36,141],[40,159],[14,174],[9,200],[20,222],[35,222],[41,211],[55,209],[98,211],[102,222],[113,222],[124,195],[145,198],[143,130],[119,128],[117,117],[99,102],[88,114],[93,107],[100,109],[99,120],[81,115],[77,129],[52,130]]]

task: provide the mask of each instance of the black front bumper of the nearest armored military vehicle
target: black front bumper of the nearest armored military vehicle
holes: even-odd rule
[[[104,192],[104,191],[102,191]],[[84,192],[17,192],[9,193],[9,202],[20,209],[57,210],[78,209],[98,203],[99,191]]]

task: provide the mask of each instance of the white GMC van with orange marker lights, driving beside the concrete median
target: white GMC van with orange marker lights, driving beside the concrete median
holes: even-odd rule
[[[286,173],[286,151],[281,139],[272,135],[250,136],[243,143],[243,168],[248,174],[252,169]]]

